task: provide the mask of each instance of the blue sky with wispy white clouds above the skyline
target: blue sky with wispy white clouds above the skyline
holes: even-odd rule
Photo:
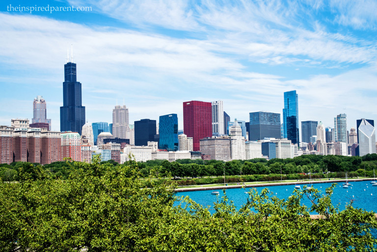
[[[8,11],[9,6],[92,11]],[[346,113],[377,119],[377,1],[16,1],[0,8],[0,125],[32,118],[42,95],[59,130],[67,48],[73,44],[89,122],[130,123],[177,113],[182,103],[224,101],[231,119],[282,113],[297,90],[299,120]]]

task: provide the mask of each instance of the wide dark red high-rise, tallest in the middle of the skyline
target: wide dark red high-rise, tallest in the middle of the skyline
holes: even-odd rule
[[[193,139],[193,151],[199,151],[199,140],[212,137],[212,103],[183,103],[183,133]]]

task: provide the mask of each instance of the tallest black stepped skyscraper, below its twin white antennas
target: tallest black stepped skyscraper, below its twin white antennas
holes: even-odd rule
[[[76,64],[64,65],[63,107],[60,107],[60,131],[78,132],[85,124],[85,107],[81,104],[81,83],[76,81]]]

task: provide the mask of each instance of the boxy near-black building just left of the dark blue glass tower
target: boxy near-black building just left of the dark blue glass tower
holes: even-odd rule
[[[154,141],[156,135],[156,120],[141,119],[135,121],[135,145],[148,146],[148,141]],[[177,128],[178,131],[178,128]]]

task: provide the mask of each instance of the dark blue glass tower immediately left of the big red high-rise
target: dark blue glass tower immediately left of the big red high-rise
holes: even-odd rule
[[[178,150],[178,116],[166,114],[160,116],[159,121],[159,148],[167,151]]]

